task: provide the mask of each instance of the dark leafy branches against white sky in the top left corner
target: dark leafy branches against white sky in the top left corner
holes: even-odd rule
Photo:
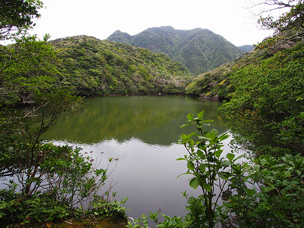
[[[43,7],[39,0],[1,0],[0,40],[12,39],[32,25],[32,19],[39,18],[38,10]]]

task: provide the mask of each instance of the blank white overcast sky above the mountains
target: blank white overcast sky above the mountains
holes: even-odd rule
[[[106,39],[116,30],[135,35],[149,27],[207,28],[236,46],[261,42],[273,31],[260,30],[246,0],[42,0],[45,9],[31,33],[51,40],[91,35]]]

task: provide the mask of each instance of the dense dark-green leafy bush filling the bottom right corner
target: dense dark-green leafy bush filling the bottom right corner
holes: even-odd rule
[[[230,184],[235,192],[223,203],[222,211],[229,211],[224,227],[303,227],[303,158],[263,156],[253,162],[245,169],[246,182]]]

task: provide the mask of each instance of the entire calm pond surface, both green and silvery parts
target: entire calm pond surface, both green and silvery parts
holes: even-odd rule
[[[137,218],[160,208],[169,216],[185,215],[186,199],[181,192],[202,193],[188,185],[191,176],[176,178],[187,171],[184,161],[175,161],[186,154],[176,140],[181,133],[195,131],[192,126],[180,126],[188,113],[204,110],[204,119],[214,120],[209,129],[226,132],[229,126],[218,110],[221,103],[182,95],[92,97],[84,101],[87,108],[83,112],[58,120],[44,139],[80,146],[96,161],[102,159],[101,166],[106,166],[107,158],[118,158],[102,191],[112,182],[118,200],[129,197],[128,216]],[[224,149],[228,151],[229,146]]]

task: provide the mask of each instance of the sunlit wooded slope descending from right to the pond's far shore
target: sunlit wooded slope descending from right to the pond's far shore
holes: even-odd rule
[[[273,63],[275,63],[274,65],[277,65],[278,62],[276,61],[278,61],[279,58],[274,58],[276,53],[300,53],[301,51],[299,49],[303,46],[304,45],[300,42],[289,40],[287,43],[278,45],[276,48],[251,50],[233,62],[223,64],[220,67],[194,76],[192,82],[186,86],[185,93],[198,95],[204,99],[229,100],[230,95],[235,91],[235,87],[231,84],[231,75],[234,75],[241,66],[247,67],[250,65],[254,68],[263,67],[264,65],[268,65],[262,64],[262,62],[265,62],[266,60],[270,62],[273,61]],[[280,59],[279,62],[282,62],[282,64],[283,62],[289,61],[289,59],[285,57],[285,54],[281,54],[281,56],[282,59]],[[272,58],[274,60],[271,60]],[[292,58],[290,57],[290,59]]]

